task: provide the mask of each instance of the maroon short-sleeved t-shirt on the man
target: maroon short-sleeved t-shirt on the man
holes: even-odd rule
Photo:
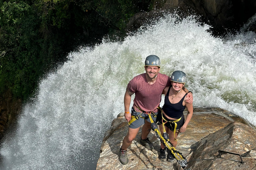
[[[133,107],[155,112],[166,86],[171,86],[171,78],[165,74],[158,73],[154,84],[148,84],[146,73],[135,76],[127,85],[128,90],[135,93]]]

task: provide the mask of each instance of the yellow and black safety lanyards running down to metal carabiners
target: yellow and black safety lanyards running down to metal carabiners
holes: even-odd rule
[[[188,162],[187,162],[187,159],[182,155],[182,153],[180,153],[179,151],[177,151],[175,149],[175,147],[172,146],[170,140],[169,140],[169,136],[168,134],[165,132],[163,133],[163,136],[161,135],[161,133],[159,132],[159,130],[157,129],[157,124],[153,121],[152,117],[150,114],[148,114],[149,116],[149,119],[150,119],[150,122],[151,122],[151,129],[154,130],[156,132],[156,136],[160,139],[160,141],[165,145],[165,147],[167,147],[172,155],[174,156],[174,158],[178,161],[178,163],[181,165],[181,167],[184,169],[184,170],[187,170],[185,169],[186,166],[188,165]],[[168,141],[168,143],[171,145],[169,146],[169,144],[166,142]],[[177,154],[177,155],[176,155]],[[190,170],[190,169],[188,169]]]

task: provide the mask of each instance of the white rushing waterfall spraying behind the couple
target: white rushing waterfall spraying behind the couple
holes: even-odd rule
[[[17,130],[2,143],[1,169],[95,169],[104,132],[124,111],[127,83],[145,72],[150,54],[160,57],[161,73],[187,74],[194,106],[226,109],[256,125],[255,33],[219,39],[192,17],[175,20],[169,15],[123,42],[71,52],[24,106]]]

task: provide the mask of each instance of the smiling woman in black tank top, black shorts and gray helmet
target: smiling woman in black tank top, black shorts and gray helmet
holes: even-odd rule
[[[165,87],[165,95],[162,114],[157,115],[157,120],[161,134],[166,131],[173,147],[177,146],[177,136],[184,132],[193,115],[193,105],[185,102],[187,93],[182,90],[185,84],[186,74],[183,71],[174,71],[171,75],[172,86]],[[184,109],[187,108],[188,114],[186,120],[183,115]],[[164,126],[163,126],[164,125]],[[164,127],[164,128],[163,128]],[[161,143],[160,154],[158,157],[161,161],[173,161],[174,157],[169,153],[166,156],[166,148]]]

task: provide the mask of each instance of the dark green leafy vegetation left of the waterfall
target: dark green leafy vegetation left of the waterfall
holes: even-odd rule
[[[40,77],[77,46],[108,33],[125,35],[151,0],[0,0],[0,94],[28,99]]]

